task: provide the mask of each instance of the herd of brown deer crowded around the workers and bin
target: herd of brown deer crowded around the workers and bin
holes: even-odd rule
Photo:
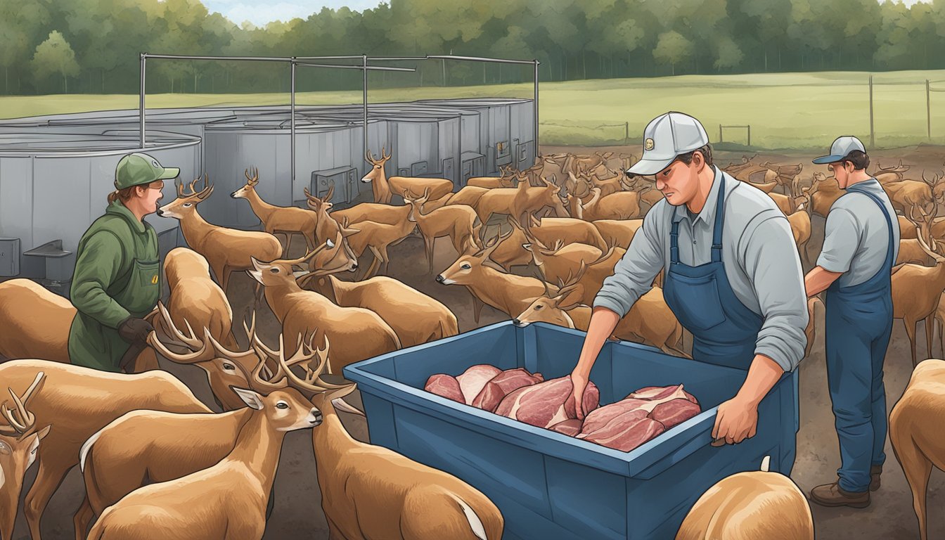
[[[207,222],[198,204],[212,195],[213,185],[206,177],[200,191],[198,181],[187,191],[180,184],[177,199],[159,214],[180,220],[190,248],[165,257],[170,296],[148,316],[155,331],[133,363],[137,373],[70,365],[66,341],[75,308],[30,280],[0,283],[0,358],[14,358],[0,363],[0,380],[12,398],[11,406],[0,406],[0,540],[10,537],[24,472],[37,456],[39,472],[25,508],[34,540],[41,537],[46,504],[77,464],[86,487],[75,516],[77,539],[86,537],[95,515],[89,538],[259,538],[283,436],[302,428],[313,429],[322,509],[333,537],[387,537],[390,531],[417,539],[501,537],[502,514],[469,484],[354,440],[336,412],[360,414],[341,399],[354,386],[322,376],[459,332],[446,305],[378,275],[387,272],[388,249],[415,230],[431,275],[435,242],[449,238],[455,262],[435,279],[469,290],[476,322],[483,305],[490,305],[519,325],[587,330],[594,296],[662,195],[652,180],[623,173],[633,156],[612,152],[546,155],[526,170],[503,168],[497,178],[469,179],[456,192],[449,180],[388,178],[384,150],[380,159],[366,157],[371,168],[362,182],[371,183],[374,200],[342,210],[333,209],[331,189],[320,198],[306,190],[307,208],[267,203],[255,190],[258,172],[247,170],[247,183],[231,196],[249,202],[262,231]],[[842,194],[833,179],[815,173],[812,185],[801,187],[800,165],[754,165],[747,157],[725,168],[771,196],[790,221],[801,259],[809,262],[811,217],[826,217]],[[945,220],[936,218],[945,183],[939,177],[907,180],[908,168],[900,164],[876,176],[908,216],[900,217],[893,294],[915,364],[916,323],[926,321],[930,356],[932,322],[945,323],[945,256],[936,252],[945,246]],[[775,192],[779,186],[784,194]],[[404,202],[392,203],[395,196]],[[276,235],[284,235],[284,245]],[[288,258],[294,235],[305,239],[306,253]],[[363,269],[358,259],[366,252],[372,261],[362,275],[338,277]],[[515,273],[514,267],[538,275]],[[243,322],[246,344],[236,339],[227,297],[233,271],[253,278],[256,306],[265,298],[281,324],[278,349],[256,335],[255,315],[249,326]],[[661,285],[658,277],[612,338],[688,357],[683,328]],[[818,303],[808,303],[808,352]],[[30,306],[28,316],[23,305]],[[329,342],[335,343],[331,355]],[[201,368],[224,412],[208,409],[161,371],[158,355]],[[941,444],[916,444],[921,455],[945,453]],[[927,479],[929,461],[913,461],[916,474],[925,470]],[[908,470],[906,476],[924,534],[925,487]],[[146,479],[158,483],[144,485]]]

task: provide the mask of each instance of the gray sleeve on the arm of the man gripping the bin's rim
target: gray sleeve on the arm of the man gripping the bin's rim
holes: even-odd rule
[[[773,214],[773,213],[772,213]],[[759,215],[748,224],[744,268],[755,288],[765,322],[758,332],[755,354],[769,357],[785,372],[804,356],[807,338],[807,297],[803,270],[791,226],[782,215]]]

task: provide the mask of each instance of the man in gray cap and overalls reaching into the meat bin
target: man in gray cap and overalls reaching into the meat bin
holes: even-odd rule
[[[646,214],[593,301],[571,374],[578,418],[604,342],[660,270],[663,297],[693,334],[693,358],[744,370],[740,390],[718,408],[714,444],[737,444],[758,428],[758,405],[804,355],[808,314],[803,272],[787,218],[765,192],[713,165],[696,118],[662,114],[644,130],[643,159],[628,174],[656,175],[664,200]],[[793,438],[791,426],[768,426]],[[778,470],[789,474],[794,444]]]

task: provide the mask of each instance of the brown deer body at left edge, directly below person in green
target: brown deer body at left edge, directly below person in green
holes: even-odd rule
[[[148,339],[154,340],[154,336],[152,332]],[[26,494],[26,523],[30,536],[37,540],[43,537],[40,522],[46,504],[65,475],[78,464],[82,442],[96,431],[129,410],[212,412],[180,380],[161,370],[126,375],[34,358],[0,364],[0,380],[14,392],[23,392],[39,372],[45,374],[45,386],[30,403],[37,424],[51,424],[63,418],[68,421],[57,423],[46,435],[39,471]]]

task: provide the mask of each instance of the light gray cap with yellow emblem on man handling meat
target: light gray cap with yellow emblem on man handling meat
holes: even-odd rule
[[[696,118],[683,113],[657,116],[644,130],[644,155],[627,174],[651,175],[673,163],[676,156],[709,144],[709,134]]]

